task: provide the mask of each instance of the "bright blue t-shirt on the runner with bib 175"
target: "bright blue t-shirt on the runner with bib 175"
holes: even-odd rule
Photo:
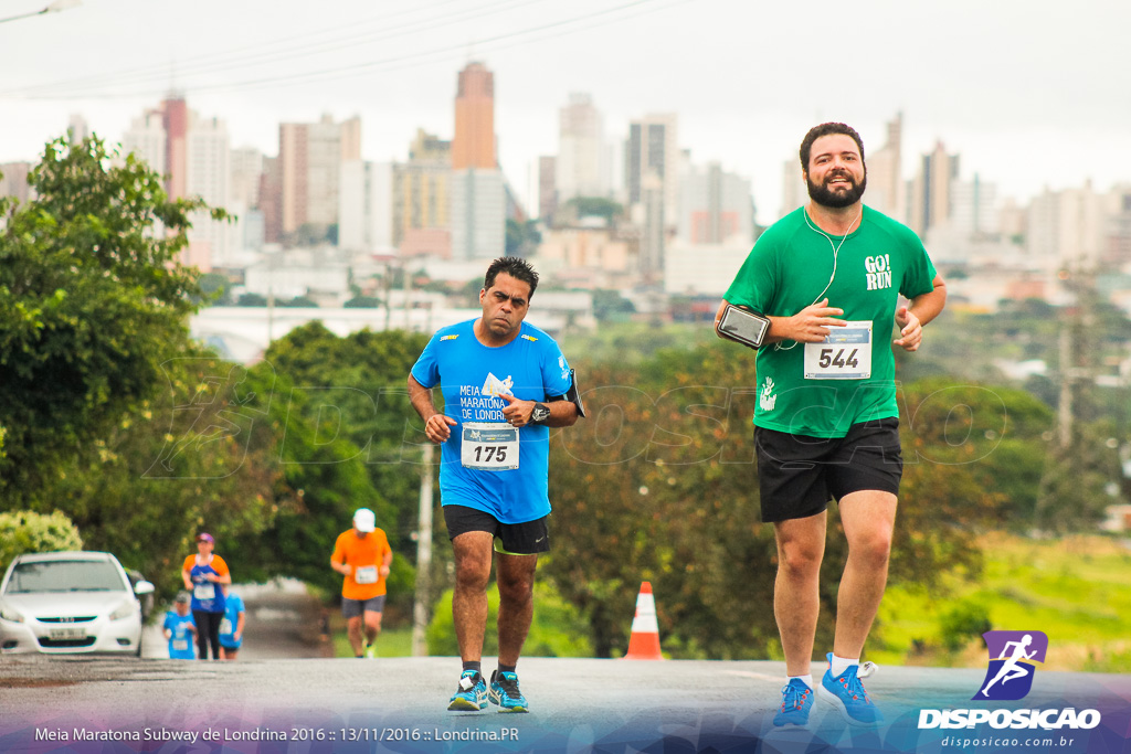
[[[507,401],[497,396],[537,401],[563,396],[570,367],[553,338],[532,324],[523,322],[517,338],[492,348],[475,337],[476,321],[439,330],[413,365],[421,385],[440,385],[443,414],[458,422],[440,453],[440,497],[444,505],[475,508],[502,523],[533,521],[550,513],[550,428],[515,430],[502,416]],[[510,452],[515,440],[518,468]]]

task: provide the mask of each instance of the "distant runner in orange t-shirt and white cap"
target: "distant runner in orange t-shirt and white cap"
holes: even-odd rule
[[[356,657],[377,657],[374,642],[381,633],[385,578],[391,563],[392,549],[385,531],[377,528],[377,517],[368,508],[359,508],[353,528],[338,535],[330,556],[330,567],[345,577],[342,615]]]

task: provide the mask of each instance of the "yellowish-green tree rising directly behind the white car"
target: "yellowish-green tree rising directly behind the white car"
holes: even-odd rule
[[[162,367],[138,409],[54,487],[89,547],[113,552],[167,597],[181,588],[181,563],[199,531],[216,536],[236,579],[249,578],[252,564],[233,539],[259,536],[297,495],[277,460],[287,417],[269,372],[202,349]]]

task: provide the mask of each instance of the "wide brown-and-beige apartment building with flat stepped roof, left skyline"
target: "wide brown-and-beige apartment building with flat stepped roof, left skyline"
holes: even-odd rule
[[[280,229],[338,222],[342,163],[361,159],[361,119],[279,124]]]

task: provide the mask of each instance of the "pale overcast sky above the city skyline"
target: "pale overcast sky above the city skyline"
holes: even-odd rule
[[[0,19],[45,2],[0,0]],[[280,121],[357,114],[365,158],[404,159],[417,127],[451,137],[475,59],[524,194],[584,92],[618,140],[677,113],[680,146],[749,177],[763,223],[810,125],[877,149],[899,111],[907,177],[942,140],[964,177],[1025,200],[1131,182],[1129,29],[1128,0],[83,0],[0,23],[0,162],[34,159],[71,113],[116,142],[172,84],[233,147],[274,155]]]

